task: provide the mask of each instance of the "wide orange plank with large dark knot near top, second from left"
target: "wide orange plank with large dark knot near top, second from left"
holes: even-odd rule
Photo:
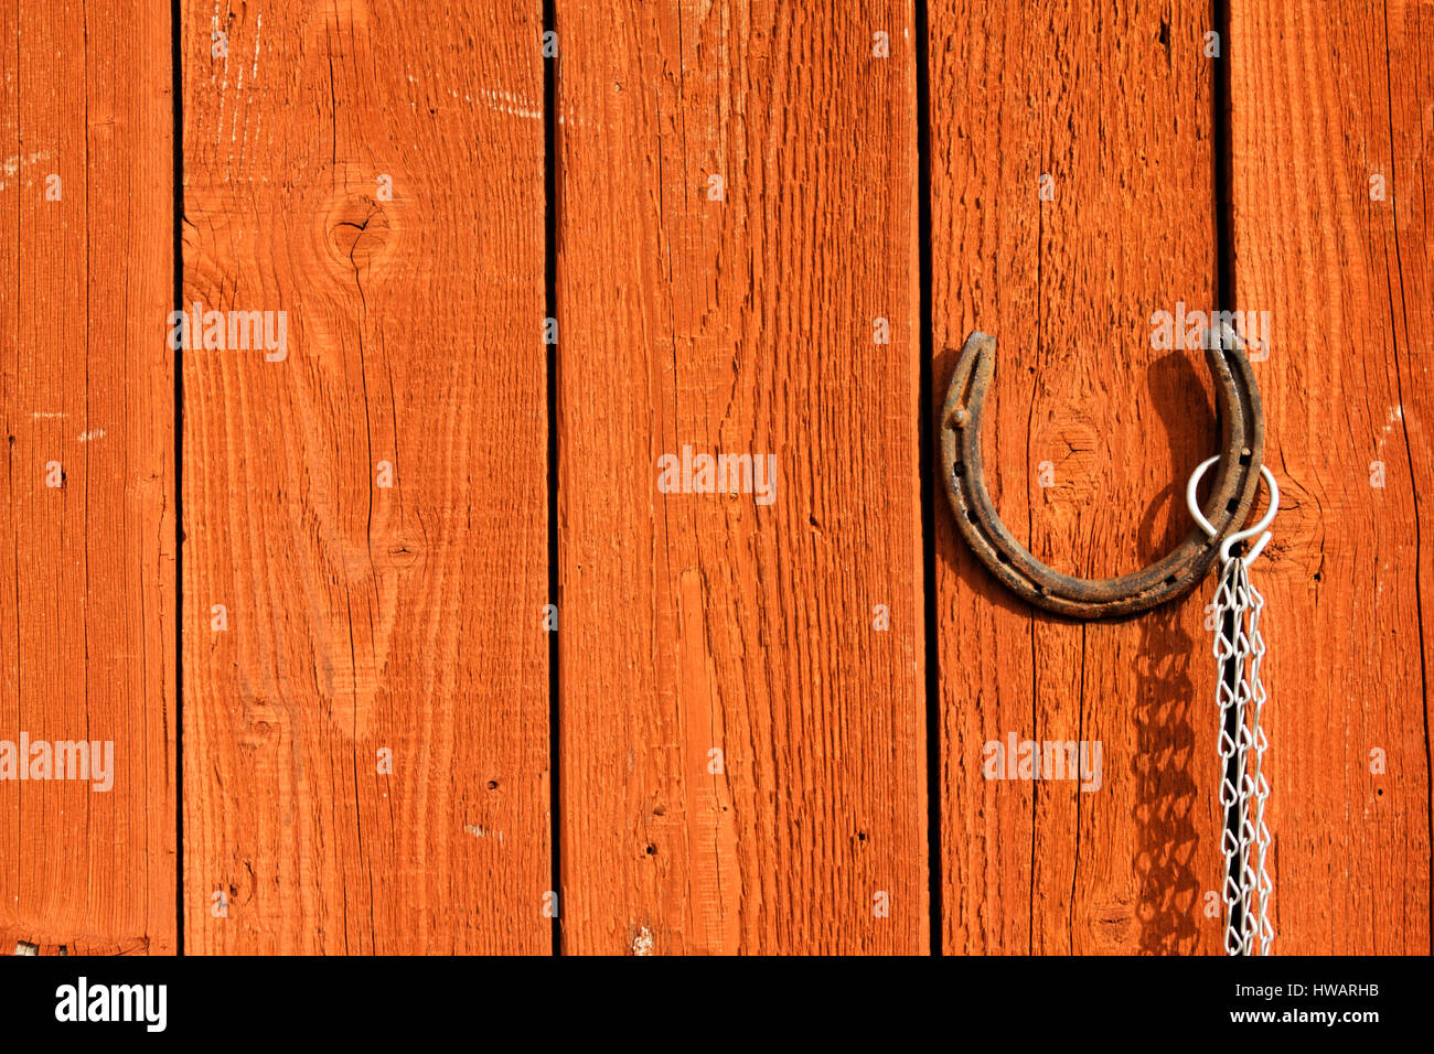
[[[182,32],[186,945],[542,952],[539,4]]]

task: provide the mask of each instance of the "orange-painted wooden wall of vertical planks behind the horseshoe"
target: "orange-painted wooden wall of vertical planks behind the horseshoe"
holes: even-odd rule
[[[0,0],[0,750],[116,759],[0,767],[0,949],[1217,954],[1213,581],[1032,611],[931,443],[992,333],[1005,523],[1150,562],[1183,304],[1269,321],[1276,951],[1430,951],[1427,4],[178,13]]]

